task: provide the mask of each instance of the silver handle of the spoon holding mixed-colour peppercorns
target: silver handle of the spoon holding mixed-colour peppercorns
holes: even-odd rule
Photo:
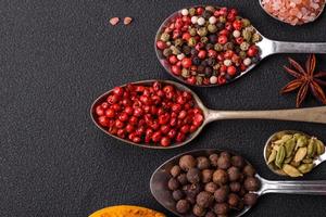
[[[273,41],[274,53],[326,53],[326,42]]]

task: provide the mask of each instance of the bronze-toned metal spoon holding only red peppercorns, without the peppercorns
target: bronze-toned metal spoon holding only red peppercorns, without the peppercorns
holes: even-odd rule
[[[96,120],[96,107],[101,102],[105,101],[108,95],[112,92],[112,90],[103,93],[100,95],[91,105],[90,108],[90,116],[95,125],[101,129],[106,135],[110,135],[118,140],[122,140],[124,142],[127,142],[129,144],[134,144],[137,146],[148,148],[148,149],[174,149],[178,146],[183,146],[193,140],[200,131],[203,129],[203,127],[214,120],[222,120],[222,119],[281,119],[281,120],[294,120],[294,122],[311,122],[311,123],[322,123],[326,124],[326,106],[319,106],[319,107],[309,107],[309,108],[296,108],[296,110],[274,110],[274,111],[215,111],[210,110],[203,105],[199,97],[189,88],[186,86],[174,82],[171,80],[142,80],[134,82],[136,85],[145,85],[150,86],[155,81],[160,81],[162,84],[170,84],[174,85],[180,90],[186,90],[190,92],[198,104],[198,106],[203,111],[204,120],[203,124],[198,128],[197,131],[191,133],[186,141],[181,143],[172,144],[171,146],[159,146],[159,145],[148,145],[148,144],[138,144],[135,142],[131,142],[129,140],[121,139],[116,136],[110,135],[108,130],[105,130],[103,127],[101,127],[97,120]]]

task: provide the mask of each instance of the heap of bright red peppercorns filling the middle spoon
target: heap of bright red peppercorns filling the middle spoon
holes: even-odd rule
[[[204,118],[190,92],[159,81],[114,88],[95,116],[111,135],[162,146],[184,142]]]

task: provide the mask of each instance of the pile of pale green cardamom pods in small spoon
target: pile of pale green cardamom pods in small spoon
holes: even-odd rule
[[[278,136],[267,149],[267,163],[280,174],[300,177],[311,171],[314,159],[325,153],[325,145],[315,137],[302,133]]]

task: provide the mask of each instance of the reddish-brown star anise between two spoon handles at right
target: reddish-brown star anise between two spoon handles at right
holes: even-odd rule
[[[309,90],[313,95],[321,101],[323,104],[326,104],[326,95],[323,90],[323,86],[326,86],[326,81],[322,80],[326,78],[326,73],[319,72],[315,74],[316,66],[316,56],[311,54],[305,62],[305,69],[294,60],[289,58],[290,65],[294,68],[284,66],[287,73],[294,76],[296,79],[289,82],[286,87],[280,90],[280,93],[291,92],[299,89],[297,95],[297,107],[300,107],[302,102],[308,95]]]

